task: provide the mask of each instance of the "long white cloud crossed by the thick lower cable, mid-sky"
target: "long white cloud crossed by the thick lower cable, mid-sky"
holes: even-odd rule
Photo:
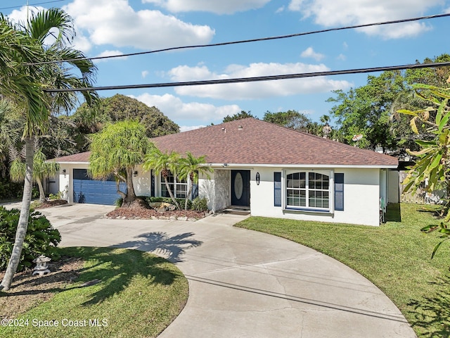
[[[181,65],[170,70],[169,76],[173,81],[183,82],[257,77],[264,75],[315,73],[327,70],[329,70],[329,68],[323,64],[252,63],[248,66],[229,65],[223,73],[214,73],[205,65],[195,67]],[[179,95],[209,97],[213,99],[242,100],[330,92],[335,89],[347,89],[351,86],[352,84],[350,82],[344,80],[332,80],[330,77],[310,77],[293,80],[272,80],[264,82],[241,82],[233,84],[176,87],[175,91]]]

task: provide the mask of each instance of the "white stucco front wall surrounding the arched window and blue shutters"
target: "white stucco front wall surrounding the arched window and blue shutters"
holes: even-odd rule
[[[379,169],[335,169],[334,173],[344,173],[344,211],[334,211],[333,213],[286,211],[283,210],[283,207],[274,206],[274,172],[282,172],[282,170],[283,168],[255,168],[251,171],[250,211],[252,215],[356,225],[379,225]],[[259,185],[255,180],[257,172],[260,175]],[[284,195],[283,190],[282,195]]]

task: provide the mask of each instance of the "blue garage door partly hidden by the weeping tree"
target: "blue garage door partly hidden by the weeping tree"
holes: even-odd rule
[[[127,184],[120,182],[120,190],[125,192]],[[117,194],[115,180],[93,180],[86,169],[73,170],[73,201],[75,203],[113,205],[120,195]]]

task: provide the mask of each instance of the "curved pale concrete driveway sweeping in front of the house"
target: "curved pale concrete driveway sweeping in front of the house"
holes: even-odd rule
[[[354,270],[286,239],[197,222],[109,220],[111,206],[44,209],[62,246],[152,251],[189,281],[186,307],[160,337],[416,337],[390,299]]]

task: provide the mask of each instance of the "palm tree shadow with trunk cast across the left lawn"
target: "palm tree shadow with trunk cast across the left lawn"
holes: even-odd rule
[[[86,296],[89,300],[85,301],[83,305],[92,305],[101,303],[101,301],[124,291],[136,277],[144,277],[148,283],[147,287],[156,284],[170,285],[184,277],[165,258],[143,251],[92,247],[71,247],[61,250],[65,256],[82,258],[87,266],[79,266],[73,270],[70,279],[65,273],[57,272],[23,283],[19,282],[19,285],[30,284],[31,287],[18,291],[12,288],[11,292],[0,293],[0,296],[45,295],[86,289],[88,292]],[[33,287],[37,282],[46,284],[56,279],[64,280],[66,283],[60,287]],[[77,284],[72,284],[72,280]]]

